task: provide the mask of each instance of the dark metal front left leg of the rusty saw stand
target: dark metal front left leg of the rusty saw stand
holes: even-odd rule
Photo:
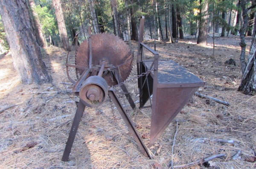
[[[67,161],[68,160],[73,142],[74,142],[75,137],[76,137],[76,132],[77,132],[80,120],[81,120],[81,118],[84,114],[84,109],[85,109],[85,105],[81,102],[81,100],[79,100],[79,103],[78,103],[78,106],[77,106],[77,109],[76,109],[76,115],[74,117],[71,129],[70,129],[70,134],[69,134],[68,139],[67,139],[67,144],[66,144],[66,147],[65,147],[62,159],[61,159],[62,161]]]

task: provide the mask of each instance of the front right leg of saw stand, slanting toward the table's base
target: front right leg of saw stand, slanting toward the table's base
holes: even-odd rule
[[[135,129],[134,123],[132,122],[130,117],[126,114],[126,112],[122,106],[122,103],[120,103],[120,100],[118,99],[117,95],[115,94],[115,92],[113,91],[112,88],[108,90],[108,95],[113,100],[117,110],[119,111],[120,115],[122,116],[123,120],[125,121],[125,124],[128,126],[128,129],[131,132],[131,134],[133,135],[136,143],[138,144],[140,151],[143,153],[143,155],[145,157],[151,158],[151,156],[148,152],[147,146],[145,146],[143,140],[141,140],[140,135],[137,133],[137,130]]]

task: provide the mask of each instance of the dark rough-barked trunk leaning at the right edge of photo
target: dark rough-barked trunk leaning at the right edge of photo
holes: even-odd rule
[[[254,24],[256,24],[256,21]],[[247,66],[238,91],[246,95],[256,94],[256,26],[254,26],[253,40],[250,46]]]

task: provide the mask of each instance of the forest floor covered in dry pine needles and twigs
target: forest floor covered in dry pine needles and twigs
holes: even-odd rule
[[[161,58],[175,60],[206,82],[199,89],[201,94],[230,106],[194,95],[150,148],[152,159],[140,153],[117,110],[114,121],[107,101],[99,108],[85,109],[70,159],[61,161],[76,112],[75,100],[79,99],[70,94],[72,86],[64,65],[67,52],[56,47],[45,50],[44,61],[53,82],[42,85],[20,84],[11,53],[1,55],[0,168],[168,169],[171,163],[177,167],[221,154],[207,163],[201,160],[183,168],[256,168],[256,96],[237,92],[241,82],[239,42],[239,36],[216,38],[214,56],[211,37],[207,46],[197,45],[191,37],[175,44],[157,42]],[[251,38],[246,37],[246,42],[248,54]],[[145,43],[154,48],[153,41]],[[136,56],[136,42],[132,42],[132,50]],[[236,66],[225,64],[230,58]],[[128,79],[136,76],[134,65]],[[127,86],[134,101],[138,100],[137,80]],[[150,113],[150,109],[133,112],[140,135],[149,135]],[[148,137],[143,140],[148,143]]]

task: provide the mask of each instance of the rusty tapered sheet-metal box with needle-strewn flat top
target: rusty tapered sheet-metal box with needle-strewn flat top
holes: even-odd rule
[[[147,67],[151,62],[145,62]],[[204,81],[173,60],[159,61],[158,71],[151,74],[153,86],[150,142],[151,147]]]

